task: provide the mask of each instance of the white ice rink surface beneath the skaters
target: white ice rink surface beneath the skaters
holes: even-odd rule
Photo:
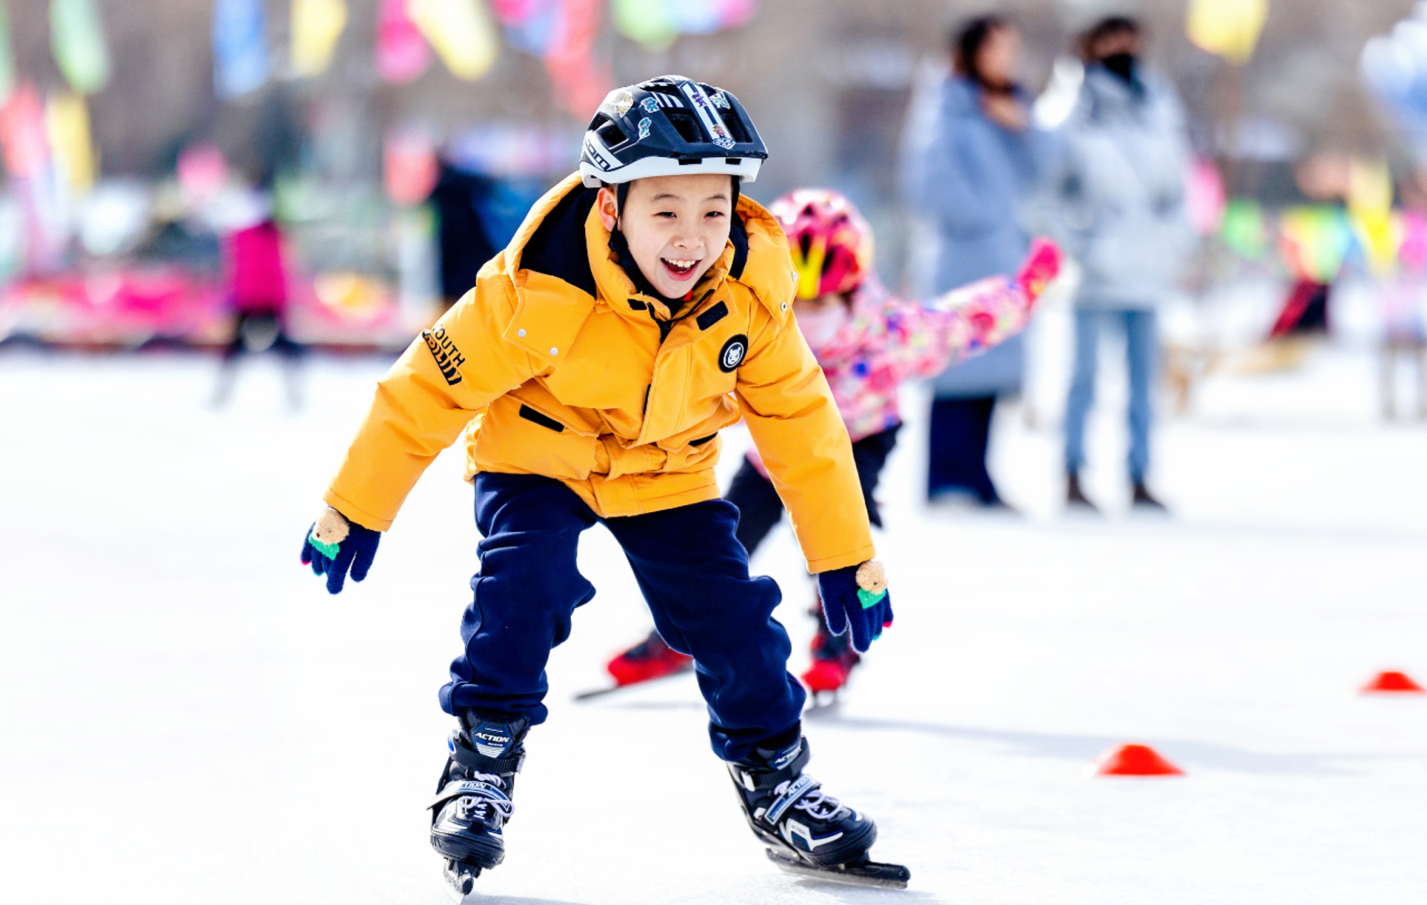
[[[475,568],[459,462],[417,488],[367,582],[330,598],[297,564],[382,370],[318,360],[290,415],[271,364],[214,413],[208,360],[0,355],[0,898],[444,901],[422,805]],[[478,901],[1424,901],[1427,698],[1356,694],[1378,669],[1427,678],[1427,430],[1374,420],[1374,374],[1321,351],[1207,381],[1159,434],[1172,520],[1124,514],[1113,411],[1089,474],[1104,520],[1057,511],[1055,425],[1016,407],[995,470],[1025,515],[928,510],[910,418],[882,492],[898,624],[806,724],[813,775],[910,865],[900,894],[763,861],[692,681],[569,701],[646,627],[595,528],[599,597],[551,659]],[[801,669],[786,528],[755,568],[783,587]],[[1122,741],[1189,775],[1083,777]]]

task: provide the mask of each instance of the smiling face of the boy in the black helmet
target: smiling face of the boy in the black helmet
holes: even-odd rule
[[[601,188],[598,210],[606,230],[618,223],[645,280],[681,298],[723,254],[732,203],[732,177],[701,173],[635,180],[622,211],[615,191]]]

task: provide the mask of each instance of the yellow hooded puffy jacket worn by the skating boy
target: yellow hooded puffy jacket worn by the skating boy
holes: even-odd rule
[[[718,498],[718,431],[743,418],[813,572],[873,557],[848,431],[792,320],[778,223],[739,198],[676,318],[635,290],[571,176],[392,365],[325,500],[385,531],[465,433],[478,471],[558,478],[601,517]],[[742,223],[739,223],[742,221]]]

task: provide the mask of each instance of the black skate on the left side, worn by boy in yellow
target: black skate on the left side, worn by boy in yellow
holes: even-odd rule
[[[431,808],[431,846],[445,858],[445,879],[458,898],[471,892],[482,869],[505,859],[502,831],[515,805],[515,774],[525,761],[529,719],[509,721],[467,711],[465,728],[451,734]]]

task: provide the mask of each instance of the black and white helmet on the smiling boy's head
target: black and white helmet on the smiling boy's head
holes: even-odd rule
[[[591,188],[692,173],[752,183],[766,158],[736,97],[684,76],[661,76],[605,97],[585,131],[579,176]]]

